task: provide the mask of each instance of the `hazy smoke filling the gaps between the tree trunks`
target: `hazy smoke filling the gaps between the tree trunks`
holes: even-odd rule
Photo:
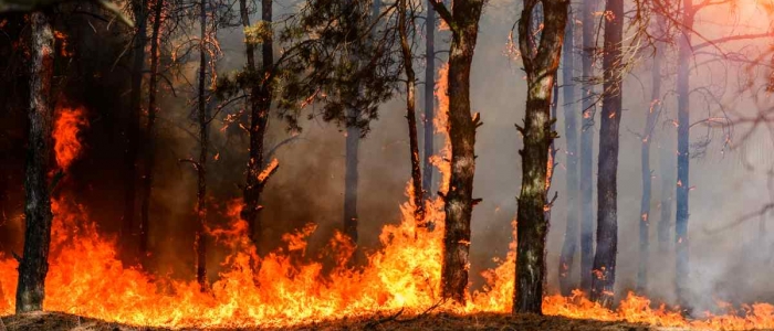
[[[506,54],[508,35],[520,10],[520,1],[490,1],[484,9],[481,21],[478,46],[472,70],[472,109],[480,111],[483,126],[477,136],[477,173],[474,197],[483,202],[474,209],[472,220],[471,270],[473,287],[482,284],[478,276],[482,270],[493,267],[493,257],[503,258],[508,252],[511,237],[511,221],[515,217],[515,196],[520,192],[521,159],[517,150],[522,140],[514,124],[520,124],[524,117],[525,83],[521,63],[509,58]],[[286,6],[279,11],[292,10]],[[735,17],[729,21],[728,12],[722,9],[710,11],[702,15],[697,24],[698,32],[704,38],[717,38],[729,33],[742,33],[765,26],[747,26],[756,20],[746,19],[735,22],[735,18],[754,15],[767,21],[765,14],[747,7],[738,9]],[[280,13],[281,13],[280,12]],[[717,24],[720,21],[719,24]],[[584,22],[586,23],[586,22]],[[724,26],[738,23],[734,31]],[[743,24],[744,23],[744,24]],[[100,228],[108,234],[117,234],[121,228],[123,188],[121,169],[123,149],[123,129],[126,113],[127,73],[122,68],[125,60],[118,62],[117,70],[111,70],[123,49],[122,38],[117,32],[105,40],[107,45],[96,46],[97,38],[80,38],[88,33],[85,22],[74,24],[80,26],[79,33],[66,33],[74,47],[73,56],[81,56],[76,63],[93,61],[90,66],[72,67],[73,76],[84,77],[80,82],[69,82],[67,99],[82,103],[86,110],[88,122],[84,130],[85,149],[80,160],[73,163],[72,178],[67,180],[72,192],[80,202],[86,204],[91,212],[101,217]],[[101,25],[102,26],[102,25]],[[105,33],[107,34],[107,33]],[[439,33],[437,47],[446,50],[448,32]],[[240,29],[223,29],[219,41],[224,53],[218,63],[220,73],[239,70],[244,63],[244,51]],[[730,43],[728,50],[739,50],[750,42]],[[765,41],[756,41],[754,46],[763,49]],[[0,47],[3,49],[3,47]],[[420,50],[421,51],[421,50]],[[670,49],[669,52],[673,53]],[[674,56],[667,56],[665,86],[673,88]],[[439,55],[444,57],[446,55]],[[0,56],[2,57],[2,56]],[[702,62],[695,60],[697,63]],[[626,78],[624,108],[621,119],[620,156],[618,172],[618,279],[616,293],[618,297],[635,288],[638,264],[638,228],[640,222],[640,139],[632,132],[641,131],[645,117],[649,110],[648,74],[649,62],[639,63],[631,75]],[[719,109],[718,103],[708,100],[705,96],[692,96],[691,116],[700,120],[708,116],[717,116],[720,110],[746,116],[755,115],[765,104],[753,102],[746,92],[736,88],[745,77],[747,68],[743,65],[725,65],[710,63],[697,66],[691,74],[692,87],[711,85],[712,90],[723,92]],[[186,68],[185,74],[190,78],[195,70]],[[576,76],[579,76],[576,73]],[[157,127],[157,164],[156,180],[151,204],[150,248],[154,252],[151,268],[159,274],[171,274],[176,278],[191,278],[194,266],[194,206],[196,196],[196,173],[190,164],[181,163],[198,153],[197,129],[192,121],[194,107],[189,103],[192,92],[186,90],[185,79],[172,77],[177,96],[168,87],[161,93],[161,106]],[[3,81],[3,84],[6,82]],[[420,99],[423,97],[419,94]],[[115,100],[122,100],[117,104]],[[562,100],[559,105],[577,100]],[[23,104],[23,103],[20,103]],[[15,105],[9,103],[9,105]],[[676,113],[674,94],[667,94],[663,100],[665,115],[660,121],[673,119]],[[222,118],[228,114],[238,115],[241,107],[221,114],[212,121],[212,156],[208,168],[208,192],[211,202],[212,226],[222,224],[226,218],[222,211],[228,202],[241,196],[240,184],[244,182],[247,164],[247,132],[239,128],[239,122],[224,128]],[[17,109],[18,110],[18,109]],[[733,111],[732,111],[733,110]],[[579,111],[579,106],[578,106]],[[9,115],[10,114],[10,115]],[[559,149],[558,162],[553,182],[553,190],[558,192],[551,220],[551,231],[547,241],[548,290],[557,291],[558,254],[564,237],[566,220],[565,162],[566,151],[564,140],[564,119],[562,111],[557,130],[559,138],[556,145]],[[6,119],[19,121],[23,111],[2,113],[0,128],[10,132],[6,140],[20,140],[23,135],[6,130]],[[379,119],[373,124],[372,132],[360,145],[360,182],[358,190],[358,214],[360,245],[366,249],[375,249],[378,234],[383,225],[397,223],[400,220],[399,204],[406,201],[405,188],[410,178],[408,128],[405,119],[404,99],[398,96],[395,100],[379,107]],[[23,118],[23,117],[22,117]],[[23,122],[23,120],[21,120]],[[653,169],[653,195],[651,200],[651,259],[649,266],[649,296],[655,301],[665,300],[674,303],[674,257],[672,254],[661,255],[657,252],[656,223],[660,212],[660,177],[661,169],[658,156],[661,152],[662,130],[673,130],[670,125],[659,124],[655,135],[656,143],[651,147],[651,168]],[[21,126],[21,124],[20,124]],[[280,162],[279,171],[270,179],[262,197],[264,210],[261,220],[265,227],[264,248],[279,245],[282,234],[301,228],[307,223],[316,223],[317,231],[311,237],[310,250],[318,252],[327,243],[332,234],[342,227],[343,192],[344,192],[344,134],[334,124],[323,122],[313,118],[302,121],[303,132],[291,142],[282,145],[273,156]],[[751,127],[734,128],[735,137],[741,137]],[[596,130],[596,128],[595,128]],[[772,235],[766,228],[774,227],[766,223],[767,215],[763,214],[754,221],[746,221],[738,226],[720,233],[714,228],[734,223],[771,201],[767,171],[772,167],[770,150],[771,137],[759,130],[736,146],[725,143],[725,136],[719,134],[719,128],[697,126],[691,130],[691,142],[709,141],[703,149],[704,156],[691,160],[690,199],[690,234],[691,239],[691,302],[698,309],[715,307],[715,300],[733,302],[774,301],[774,288],[770,286],[766,275],[774,271],[774,263],[767,254],[771,252]],[[709,134],[708,134],[709,132]],[[285,124],[272,117],[270,132],[266,139],[268,150],[290,138]],[[439,136],[440,137],[440,136]],[[673,136],[670,136],[673,139]],[[707,140],[707,138],[712,138]],[[420,135],[421,139],[421,135]],[[595,138],[598,142],[598,138]],[[734,141],[732,139],[732,141]],[[421,143],[421,141],[420,141]],[[0,249],[19,250],[21,239],[20,214],[23,199],[20,171],[23,162],[23,151],[19,152],[9,143],[3,148],[3,164],[13,160],[13,167],[3,170],[0,196],[3,214],[0,215]],[[439,142],[439,147],[440,147]],[[596,151],[595,146],[595,152]],[[693,151],[693,149],[692,149]],[[9,156],[6,159],[6,156]],[[12,157],[11,157],[12,156]],[[217,158],[216,158],[217,156]],[[596,162],[595,162],[596,163]],[[745,164],[753,167],[745,167]],[[596,164],[595,164],[596,167]],[[596,171],[595,171],[596,175]],[[673,174],[672,174],[673,175]],[[12,179],[12,180],[7,180]],[[595,193],[596,199],[596,193]],[[673,213],[672,213],[673,217]],[[12,221],[17,220],[17,221]],[[670,233],[673,233],[673,220]],[[672,234],[673,238],[673,234]],[[210,243],[209,265],[217,266],[227,253],[223,247]],[[316,256],[316,254],[310,254]],[[576,265],[579,265],[576,261]],[[577,270],[577,269],[576,269]],[[210,270],[210,277],[217,276],[217,268]]]

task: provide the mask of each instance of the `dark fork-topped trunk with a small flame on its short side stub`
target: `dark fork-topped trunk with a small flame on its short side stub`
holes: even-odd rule
[[[272,7],[273,1],[263,0],[261,2],[262,23],[271,26],[272,24]],[[242,25],[250,26],[250,14],[247,8],[247,0],[239,1]],[[258,213],[261,210],[261,193],[265,186],[269,175],[261,175],[263,172],[264,162],[264,137],[269,125],[269,110],[272,102],[272,85],[271,75],[274,64],[274,44],[272,38],[263,40],[261,55],[263,70],[262,74],[257,71],[255,66],[255,49],[250,42],[245,42],[248,56],[248,71],[254,82],[251,82],[250,87],[250,159],[248,160],[248,177],[247,185],[244,186],[243,197],[244,207],[242,209],[241,217],[248,223],[250,238],[253,244],[258,245],[263,233],[263,226],[260,223]],[[273,170],[272,170],[273,171]],[[268,173],[269,174],[269,173]]]

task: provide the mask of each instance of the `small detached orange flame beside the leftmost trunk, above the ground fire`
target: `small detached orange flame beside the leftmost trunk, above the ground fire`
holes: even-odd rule
[[[88,127],[88,121],[81,108],[57,108],[54,122],[54,151],[56,164],[66,171],[81,154],[83,146],[79,140],[81,129]]]

